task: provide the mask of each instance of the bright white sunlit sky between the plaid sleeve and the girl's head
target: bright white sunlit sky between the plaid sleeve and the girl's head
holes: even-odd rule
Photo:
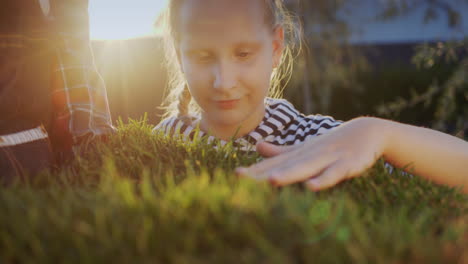
[[[154,26],[167,0],[90,0],[90,37],[118,40],[160,34]]]

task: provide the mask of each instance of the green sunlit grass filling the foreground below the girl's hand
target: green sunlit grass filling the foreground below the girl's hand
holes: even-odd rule
[[[86,158],[0,187],[0,263],[467,263],[468,197],[418,177],[313,193],[238,179],[258,160],[120,124]]]

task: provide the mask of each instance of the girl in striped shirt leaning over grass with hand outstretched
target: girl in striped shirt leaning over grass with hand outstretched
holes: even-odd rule
[[[169,117],[156,128],[234,139],[266,159],[237,173],[312,190],[360,175],[379,158],[468,192],[468,143],[430,129],[360,117],[305,116],[275,94],[290,69],[296,28],[280,0],[170,0],[177,67]],[[288,63],[289,62],[289,63]],[[290,146],[281,146],[290,145]],[[278,155],[279,154],[279,155]]]

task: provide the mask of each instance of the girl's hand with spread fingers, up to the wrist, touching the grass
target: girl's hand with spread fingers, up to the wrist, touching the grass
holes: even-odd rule
[[[321,190],[370,168],[383,154],[385,139],[378,122],[358,118],[300,145],[259,143],[261,155],[274,157],[236,172],[279,186],[305,181],[309,189]]]

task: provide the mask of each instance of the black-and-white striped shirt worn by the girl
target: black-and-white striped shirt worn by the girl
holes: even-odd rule
[[[342,124],[330,116],[304,115],[285,99],[265,99],[265,116],[260,124],[247,135],[236,139],[234,146],[243,150],[255,151],[259,141],[266,141],[275,145],[296,145],[310,138],[327,133]],[[195,120],[199,119],[196,117]],[[196,122],[198,123],[198,122]],[[215,140],[214,136],[186,124],[177,117],[164,119],[153,131],[163,131],[166,135],[180,134],[185,139],[207,136],[208,142]],[[222,145],[227,142],[219,140]]]

